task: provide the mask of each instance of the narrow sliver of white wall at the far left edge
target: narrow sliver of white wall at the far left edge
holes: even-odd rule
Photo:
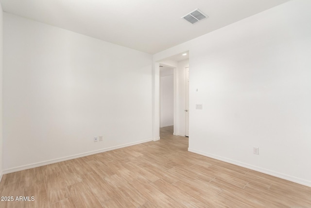
[[[3,44],[3,12],[0,3],[0,181],[2,178],[2,44]]]

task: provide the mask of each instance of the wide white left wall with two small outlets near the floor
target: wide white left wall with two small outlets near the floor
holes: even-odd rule
[[[8,13],[3,50],[5,172],[152,139],[151,55]]]

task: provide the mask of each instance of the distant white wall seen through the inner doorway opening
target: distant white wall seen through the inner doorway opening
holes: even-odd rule
[[[173,68],[160,71],[160,128],[173,126],[174,86]]]

